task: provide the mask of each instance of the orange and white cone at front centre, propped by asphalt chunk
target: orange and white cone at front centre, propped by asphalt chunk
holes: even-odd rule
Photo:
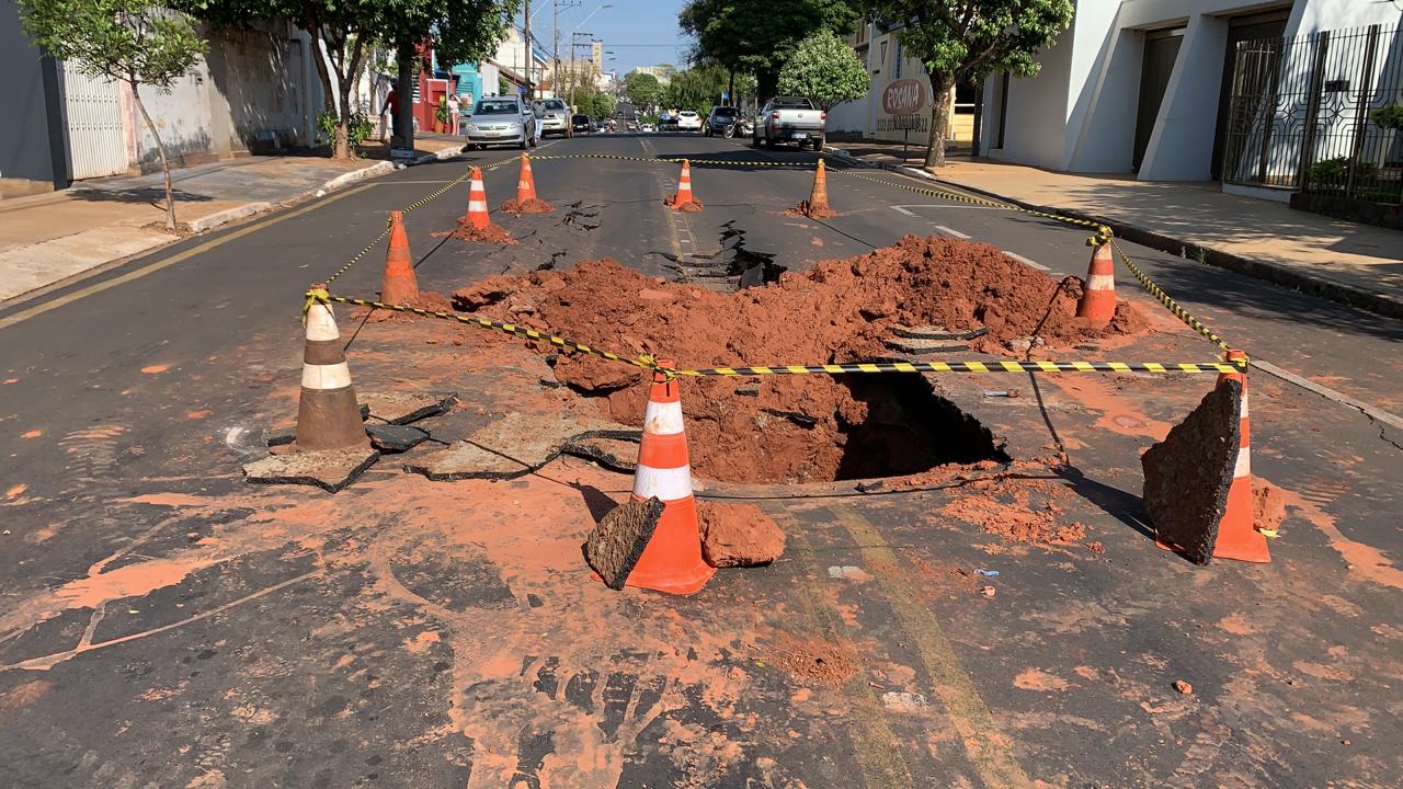
[[[668,361],[658,364],[672,366]],[[679,382],[675,378],[669,380],[661,372],[652,373],[652,389],[648,390],[631,498],[647,501],[654,496],[666,508],[627,583],[630,587],[692,594],[706,585],[716,569],[702,559],[702,533],[696,500],[692,497],[692,466],[682,425]]]

